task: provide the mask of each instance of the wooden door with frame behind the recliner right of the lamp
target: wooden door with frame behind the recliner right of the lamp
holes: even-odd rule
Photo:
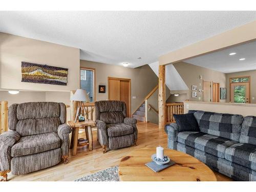
[[[109,100],[124,101],[126,116],[131,117],[131,79],[108,77]]]

